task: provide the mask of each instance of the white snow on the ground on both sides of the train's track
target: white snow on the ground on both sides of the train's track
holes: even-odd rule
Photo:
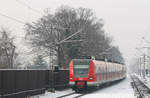
[[[136,98],[134,96],[134,91],[130,85],[130,81],[130,77],[127,77],[125,80],[117,84],[99,89],[97,91],[94,91],[92,94],[87,94],[85,96],[82,96],[81,98]],[[38,96],[38,98],[57,98],[71,92],[73,92],[71,89],[56,91],[55,93],[47,92],[45,95]],[[73,96],[65,98],[73,98]]]

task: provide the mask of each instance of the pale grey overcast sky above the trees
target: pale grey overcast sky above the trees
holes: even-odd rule
[[[25,34],[22,22],[36,21],[47,8],[55,12],[61,5],[93,9],[127,62],[137,54],[135,48],[145,45],[143,36],[150,40],[150,0],[0,0],[0,27],[8,28],[20,40]]]

